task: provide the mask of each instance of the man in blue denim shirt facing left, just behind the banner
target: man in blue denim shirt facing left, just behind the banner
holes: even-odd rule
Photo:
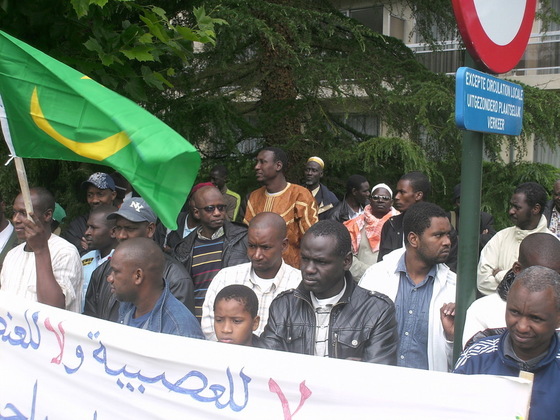
[[[110,261],[107,281],[121,302],[119,322],[154,332],[204,339],[194,315],[163,280],[165,257],[148,238],[122,242]]]

